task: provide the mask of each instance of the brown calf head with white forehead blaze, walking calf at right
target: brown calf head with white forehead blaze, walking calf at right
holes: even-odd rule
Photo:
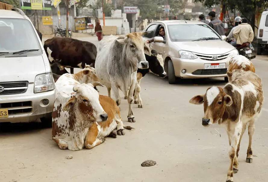
[[[192,104],[204,103],[203,126],[221,121],[226,106],[231,106],[233,103],[232,98],[223,91],[223,88],[215,86],[208,88],[205,95],[194,96],[189,102]]]

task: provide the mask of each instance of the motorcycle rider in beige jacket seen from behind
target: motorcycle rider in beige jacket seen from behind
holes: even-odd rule
[[[236,39],[236,48],[239,48],[244,43],[251,44],[254,38],[254,32],[246,18],[243,18],[242,23],[235,28],[233,36]]]

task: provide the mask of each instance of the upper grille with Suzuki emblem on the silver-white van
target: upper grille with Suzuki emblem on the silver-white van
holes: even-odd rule
[[[27,91],[28,82],[0,82],[0,95],[22,94]]]

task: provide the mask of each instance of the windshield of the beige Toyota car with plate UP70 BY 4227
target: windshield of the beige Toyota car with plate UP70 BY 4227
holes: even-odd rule
[[[168,25],[168,34],[172,42],[196,41],[196,40],[221,40],[208,25],[179,24]],[[208,38],[208,39],[206,39]]]

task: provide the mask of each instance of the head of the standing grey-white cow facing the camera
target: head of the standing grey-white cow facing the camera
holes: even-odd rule
[[[126,57],[139,69],[147,69],[148,61],[145,55],[151,55],[151,50],[142,40],[142,35],[147,32],[132,32],[126,35],[125,39],[117,39],[120,44],[126,45]]]

